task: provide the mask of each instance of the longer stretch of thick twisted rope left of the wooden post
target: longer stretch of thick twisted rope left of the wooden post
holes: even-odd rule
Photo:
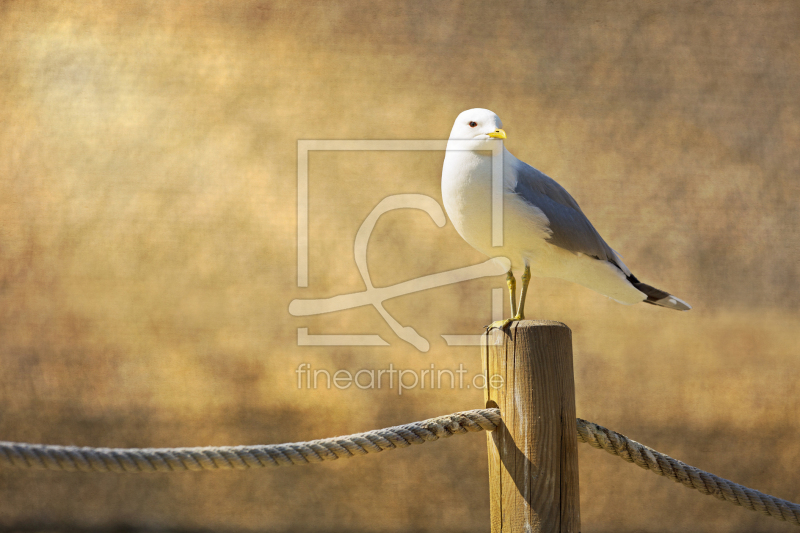
[[[260,446],[79,448],[0,442],[0,470],[139,473],[305,465],[406,448],[474,431],[492,431],[500,421],[498,409],[475,409],[344,437]]]

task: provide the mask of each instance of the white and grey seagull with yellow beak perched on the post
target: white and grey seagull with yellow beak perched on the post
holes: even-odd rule
[[[488,109],[456,118],[442,168],[442,198],[450,220],[473,248],[511,261],[506,282],[513,318],[525,319],[531,275],[572,281],[623,304],[648,304],[688,311],[672,294],[642,283],[600,236],[578,202],[555,180],[514,157],[503,146],[503,245],[492,246],[492,150],[506,138],[503,123]],[[473,141],[471,149],[463,141]],[[516,275],[522,279],[519,308]]]

